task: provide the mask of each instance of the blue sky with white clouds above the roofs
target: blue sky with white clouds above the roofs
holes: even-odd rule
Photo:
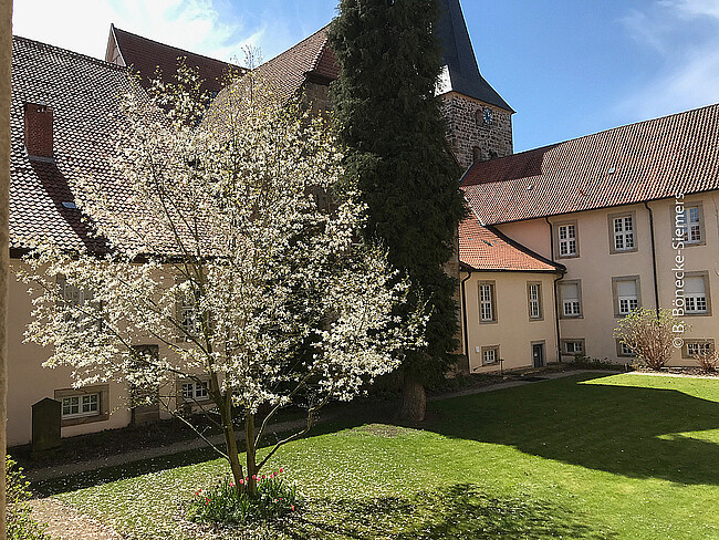
[[[462,0],[514,149],[719,102],[719,0]],[[229,60],[270,59],[335,0],[15,0],[14,32],[103,58],[110,23]]]

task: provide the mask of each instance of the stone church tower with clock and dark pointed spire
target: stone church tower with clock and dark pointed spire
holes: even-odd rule
[[[467,168],[512,154],[512,107],[482,77],[459,0],[441,0],[437,35],[444,48],[438,85],[447,120],[447,139]]]

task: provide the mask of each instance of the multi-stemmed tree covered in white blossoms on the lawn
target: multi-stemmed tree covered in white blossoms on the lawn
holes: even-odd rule
[[[116,185],[75,180],[107,253],[45,243],[27,258],[22,277],[40,284],[27,338],[52,346],[45,364],[71,366],[77,386],[201,385],[225,434],[216,449],[238,489],[254,492],[253,476],[320,407],[352,399],[420,344],[426,318],[394,315],[407,283],[358,243],[355,194],[326,202],[341,154],[321,118],[274,100],[253,73],[208,110],[196,75],[179,74],[183,84],[156,83],[149,100],[125,96]],[[150,339],[160,354],[137,347]],[[170,411],[175,393],[161,396]],[[268,422],[300,397],[306,426],[260,460]],[[256,425],[260,407],[269,414]]]

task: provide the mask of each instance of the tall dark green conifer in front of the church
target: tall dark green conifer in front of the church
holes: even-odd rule
[[[457,280],[445,267],[465,205],[435,95],[439,10],[439,0],[342,0],[330,30],[341,66],[336,126],[347,148],[346,178],[358,181],[368,206],[366,235],[387,247],[416,285],[416,301],[424,298],[431,310],[427,347],[403,365],[400,414],[408,419],[424,418],[424,385],[444,375],[457,346]]]

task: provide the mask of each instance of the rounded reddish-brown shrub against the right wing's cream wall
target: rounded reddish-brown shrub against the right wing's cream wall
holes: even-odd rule
[[[634,310],[619,321],[614,338],[629,347],[637,361],[653,370],[661,370],[671,357],[674,329],[687,326],[669,310]]]

